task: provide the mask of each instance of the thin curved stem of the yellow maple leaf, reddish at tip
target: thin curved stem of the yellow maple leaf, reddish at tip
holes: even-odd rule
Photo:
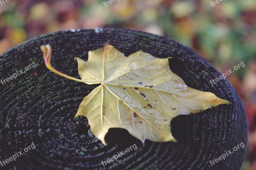
[[[51,70],[52,72],[62,76],[62,77],[65,77],[65,78],[68,78],[70,80],[74,80],[74,81],[78,81],[78,82],[83,82],[83,83],[101,83],[100,80],[81,80],[81,79],[77,79],[77,78],[74,78],[74,77],[71,77],[71,76],[68,76],[64,73],[61,73],[60,71],[58,70],[55,70],[52,65],[51,65],[51,56],[52,56],[52,48],[51,46],[48,44],[48,45],[42,45],[41,46],[41,51],[43,52],[43,55],[44,55],[44,63],[46,65],[46,67]]]

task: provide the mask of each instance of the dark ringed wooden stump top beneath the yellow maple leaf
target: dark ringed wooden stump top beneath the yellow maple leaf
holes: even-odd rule
[[[52,46],[52,66],[80,78],[74,57],[88,59],[88,51],[106,42],[128,56],[138,50],[169,59],[170,69],[189,87],[212,92],[230,105],[219,105],[193,115],[174,118],[172,134],[178,143],[146,141],[145,146],[124,129],[110,129],[104,146],[90,131],[85,117],[74,116],[79,104],[98,85],[86,85],[49,71],[40,45]],[[26,41],[0,55],[0,78],[16,70],[31,68],[0,85],[0,160],[29,150],[0,169],[241,169],[248,139],[248,122],[241,99],[228,83],[209,81],[221,74],[192,49],[169,38],[127,29],[79,29],[47,33]],[[111,99],[109,99],[111,100]],[[244,149],[216,159],[235,146]],[[107,161],[137,146],[107,165]]]

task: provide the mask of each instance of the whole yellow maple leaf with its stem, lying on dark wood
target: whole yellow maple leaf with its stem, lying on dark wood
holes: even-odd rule
[[[176,142],[171,120],[178,115],[199,113],[229,101],[188,87],[174,74],[168,58],[157,58],[143,51],[128,57],[108,43],[89,51],[88,61],[76,58],[82,79],[67,76],[50,64],[50,45],[41,46],[46,67],[63,77],[99,84],[84,98],[75,115],[85,116],[91,132],[106,145],[110,128],[126,129],[132,136],[154,142]]]

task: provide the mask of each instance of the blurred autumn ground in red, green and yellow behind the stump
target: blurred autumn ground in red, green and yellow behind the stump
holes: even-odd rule
[[[8,0],[7,0],[8,1]],[[132,28],[172,38],[194,49],[226,78],[243,100],[249,143],[243,169],[256,169],[256,1],[223,0],[1,0],[0,54],[43,33]],[[213,2],[213,0],[212,0]],[[240,143],[241,141],[237,141]]]

